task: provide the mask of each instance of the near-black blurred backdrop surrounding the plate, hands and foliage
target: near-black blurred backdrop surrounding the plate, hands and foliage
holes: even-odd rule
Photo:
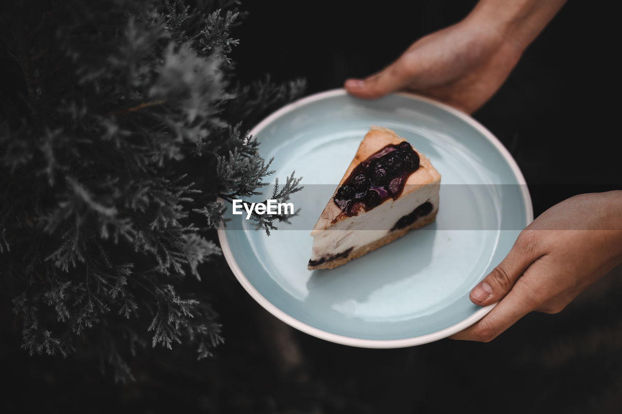
[[[392,62],[474,1],[245,1],[234,35],[243,82],[306,78],[340,87]],[[620,23],[608,2],[570,0],[476,119],[510,150],[539,214],[575,193],[620,188]],[[603,186],[607,185],[607,186]],[[534,313],[488,344],[443,339],[359,349],[295,331],[257,305],[226,265],[211,269],[225,344],[207,361],[147,351],[136,381],[78,356],[28,357],[10,303],[0,311],[2,412],[622,412],[622,272],[558,315]],[[103,364],[105,366],[105,364]]]

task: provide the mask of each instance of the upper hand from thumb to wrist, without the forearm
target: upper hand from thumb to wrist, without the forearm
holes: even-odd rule
[[[492,27],[466,19],[417,40],[379,73],[348,79],[344,86],[368,99],[414,91],[473,113],[499,89],[521,53]]]

